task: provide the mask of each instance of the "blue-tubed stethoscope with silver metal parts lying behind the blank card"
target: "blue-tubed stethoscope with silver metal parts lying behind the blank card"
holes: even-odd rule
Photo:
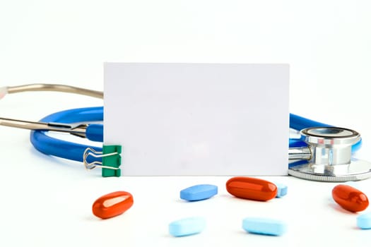
[[[66,85],[38,84],[20,87],[25,88],[6,88],[5,93],[4,88],[0,88],[0,99],[1,89],[4,97],[14,88],[13,92],[54,90],[102,97],[102,92]],[[0,125],[31,129],[30,141],[36,150],[45,155],[84,162],[86,168],[92,169],[95,164],[100,164],[100,157],[98,155],[88,157],[87,150],[101,153],[102,147],[60,140],[47,135],[47,131],[67,132],[88,140],[102,142],[103,125],[91,123],[102,120],[103,107],[88,107],[56,112],[45,116],[39,122],[0,118]],[[290,114],[290,129],[298,131],[300,138],[289,140],[288,174],[312,181],[357,181],[371,176],[370,162],[351,157],[352,153],[360,148],[361,138],[358,132],[312,121],[295,114]]]

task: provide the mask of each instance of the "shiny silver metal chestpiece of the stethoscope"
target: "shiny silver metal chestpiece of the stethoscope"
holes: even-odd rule
[[[307,162],[293,165],[288,174],[312,181],[358,181],[371,177],[371,163],[353,159],[352,145],[360,134],[348,128],[311,127],[300,131],[304,147],[310,151]]]

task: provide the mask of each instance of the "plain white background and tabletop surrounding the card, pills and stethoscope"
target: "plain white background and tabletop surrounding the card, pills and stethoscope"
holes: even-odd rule
[[[103,62],[290,64],[290,112],[354,128],[371,159],[369,1],[0,1],[0,85],[66,83],[102,90]],[[37,121],[101,105],[60,93],[8,95],[0,115]],[[272,123],[273,126],[273,123]],[[357,214],[331,202],[334,183],[267,177],[285,198],[232,198],[227,177],[100,178],[81,164],[40,155],[28,131],[0,128],[0,246],[369,246]],[[264,157],[262,157],[264,158]],[[183,203],[179,190],[213,183],[219,195]],[[371,181],[359,186],[371,195]],[[100,220],[100,195],[129,191],[134,206]],[[175,239],[167,224],[201,215],[199,235]],[[243,217],[284,219],[281,237],[242,231]]]

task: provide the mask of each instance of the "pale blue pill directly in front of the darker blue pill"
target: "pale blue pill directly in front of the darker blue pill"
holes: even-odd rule
[[[199,234],[206,228],[206,220],[202,217],[178,219],[169,224],[169,233],[172,236],[189,236]]]

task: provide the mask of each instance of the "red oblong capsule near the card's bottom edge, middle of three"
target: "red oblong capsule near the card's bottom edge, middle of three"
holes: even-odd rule
[[[227,191],[237,198],[271,200],[277,195],[277,186],[263,179],[236,176],[226,183]]]

